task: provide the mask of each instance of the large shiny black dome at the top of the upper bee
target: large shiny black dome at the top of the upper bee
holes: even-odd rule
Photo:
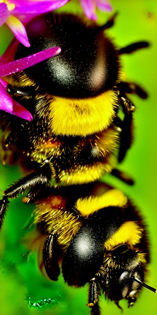
[[[72,15],[46,14],[27,26],[30,48],[19,46],[16,58],[59,46],[62,52],[26,70],[27,75],[51,95],[87,98],[113,87],[118,57],[103,30],[87,26]]]

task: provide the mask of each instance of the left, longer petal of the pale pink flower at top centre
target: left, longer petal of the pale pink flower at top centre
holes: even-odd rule
[[[95,0],[80,0],[81,7],[84,14],[89,20],[96,21],[97,16],[95,14],[96,1]]]

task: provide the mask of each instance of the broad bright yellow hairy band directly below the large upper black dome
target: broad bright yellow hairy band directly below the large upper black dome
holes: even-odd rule
[[[39,89],[25,72],[15,74],[9,83],[18,88],[35,88],[35,112],[47,119],[51,135],[87,136],[100,132],[111,125],[118,108],[117,94],[111,90],[93,98],[57,97]]]

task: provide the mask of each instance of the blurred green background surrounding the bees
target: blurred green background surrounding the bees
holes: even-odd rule
[[[103,180],[122,189],[138,207],[148,226],[150,239],[151,263],[148,267],[147,283],[157,287],[157,212],[156,212],[156,71],[157,71],[157,1],[156,0],[113,0],[114,11],[119,14],[115,25],[107,30],[117,47],[148,40],[151,46],[130,55],[122,56],[122,71],[127,81],[140,83],[147,90],[149,98],[141,100],[131,95],[136,105],[134,113],[134,143],[129,150],[120,169],[131,174],[135,185],[127,186],[120,180],[107,175]],[[81,13],[77,1],[70,1],[59,11]],[[110,16],[99,12],[100,24],[105,23]],[[7,26],[0,28],[0,54],[7,48],[12,38]],[[0,165],[0,193],[14,180],[22,176],[18,166]],[[29,219],[34,205],[22,203],[22,198],[11,200],[9,211],[5,217],[0,234],[0,314],[90,314],[87,302],[87,285],[74,289],[64,284],[62,276],[58,282],[50,282],[43,278],[37,266],[36,255],[30,256],[29,262],[24,247],[19,240],[24,237],[24,225]],[[26,301],[29,296],[32,302],[41,299],[58,300],[56,305],[42,306],[40,309],[31,308]],[[157,296],[147,289],[142,290],[133,308],[127,308],[127,301],[120,301],[127,314],[156,314]],[[100,298],[102,314],[120,314],[114,302]]]

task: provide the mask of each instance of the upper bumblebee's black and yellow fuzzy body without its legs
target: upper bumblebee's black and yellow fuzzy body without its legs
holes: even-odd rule
[[[84,31],[88,42],[82,50]],[[32,168],[34,163],[41,165],[45,160],[50,161],[52,177],[63,185],[97,180],[105,172],[111,172],[116,164],[113,151],[118,147],[120,132],[112,122],[119,99],[111,88],[118,77],[118,52],[103,31],[97,32],[92,25],[71,15],[37,17],[28,25],[27,33],[32,41],[31,51],[20,45],[16,58],[33,53],[34,49],[37,52],[42,45],[45,47],[45,42],[53,46],[58,41],[62,53],[59,59],[50,58],[48,64],[40,64],[40,73],[45,78],[42,87],[38,82],[39,68],[34,66],[10,78],[9,93],[24,106],[28,105],[34,114],[33,122],[28,125],[24,122],[23,138],[28,139],[28,149],[25,144],[24,151],[21,150],[23,157],[29,156]],[[76,49],[78,57],[73,56]],[[110,61],[108,50],[112,51]],[[86,54],[88,62],[85,62]],[[23,89],[30,90],[30,95],[22,93]],[[20,126],[15,130],[16,139],[19,129]]]

